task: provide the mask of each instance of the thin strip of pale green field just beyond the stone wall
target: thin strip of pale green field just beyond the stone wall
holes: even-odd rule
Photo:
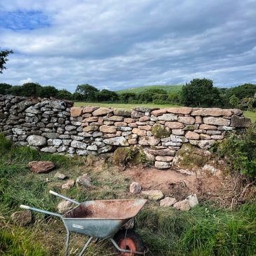
[[[93,105],[97,107],[116,107],[116,108],[125,108],[131,109],[133,107],[181,107],[178,105],[156,105],[156,104],[119,104],[119,103],[98,103],[98,102],[75,102],[74,106],[81,107],[81,106],[88,106]],[[243,112],[244,116],[248,117],[252,123],[256,122],[256,112],[245,111]]]

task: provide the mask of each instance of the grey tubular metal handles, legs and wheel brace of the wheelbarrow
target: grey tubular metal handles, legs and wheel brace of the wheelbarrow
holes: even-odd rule
[[[66,196],[62,196],[61,194],[58,194],[54,191],[49,191],[50,194],[53,194],[54,196],[59,196],[60,198],[63,198],[67,201],[70,201],[72,203],[75,203],[76,205],[79,205],[80,203],[71,199],[71,198],[67,198]],[[69,231],[68,227],[67,227],[67,224],[65,223],[65,218],[58,214],[58,213],[52,213],[52,212],[49,212],[48,210],[41,210],[41,209],[38,209],[38,208],[33,208],[33,207],[30,207],[30,206],[24,206],[24,205],[20,205],[20,208],[22,209],[26,209],[26,210],[33,210],[33,211],[36,211],[36,212],[39,212],[39,213],[45,213],[47,215],[52,215],[52,216],[55,216],[55,217],[60,217],[60,219],[62,220],[62,222],[64,223],[65,225],[65,228],[67,230],[67,240],[66,240],[66,243],[65,243],[65,256],[68,255],[68,251],[69,251],[69,242],[70,242],[70,236],[71,236],[71,231]],[[88,248],[88,245],[90,245],[91,241],[93,240],[94,236],[90,236],[88,238],[88,241],[86,241],[85,245],[83,246],[83,249],[81,250],[81,252],[79,253],[79,256],[82,256],[85,252],[86,252],[86,249]],[[114,245],[114,247],[116,248],[116,250],[119,250],[119,252],[128,252],[128,253],[133,253],[133,254],[136,254],[136,255],[145,255],[149,250],[147,249],[146,251],[144,252],[133,252],[131,250],[124,250],[124,249],[121,249],[119,247],[119,245],[116,243],[116,241],[114,241],[114,239],[112,237],[106,237],[110,242],[112,242],[112,244]]]

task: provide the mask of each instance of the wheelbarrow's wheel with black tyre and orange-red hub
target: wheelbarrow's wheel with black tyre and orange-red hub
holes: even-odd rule
[[[122,229],[114,236],[114,241],[121,249],[131,250],[132,252],[144,252],[145,246],[142,238],[133,229]],[[119,256],[135,256],[130,252],[120,252]]]

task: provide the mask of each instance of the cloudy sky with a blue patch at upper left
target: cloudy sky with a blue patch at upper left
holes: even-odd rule
[[[0,83],[256,83],[256,0],[1,0]]]

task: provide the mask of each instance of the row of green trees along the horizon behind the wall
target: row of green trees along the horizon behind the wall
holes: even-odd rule
[[[118,94],[112,90],[98,90],[95,86],[81,84],[74,93],[58,90],[54,86],[41,86],[39,83],[24,83],[12,86],[0,83],[0,94],[25,97],[57,97],[59,99],[82,102],[119,102],[127,104],[172,104],[191,107],[239,107],[255,109],[256,85],[245,83],[233,88],[217,88],[210,79],[193,79],[182,86],[182,90],[168,93],[161,88],[151,88],[141,93],[125,92]]]

